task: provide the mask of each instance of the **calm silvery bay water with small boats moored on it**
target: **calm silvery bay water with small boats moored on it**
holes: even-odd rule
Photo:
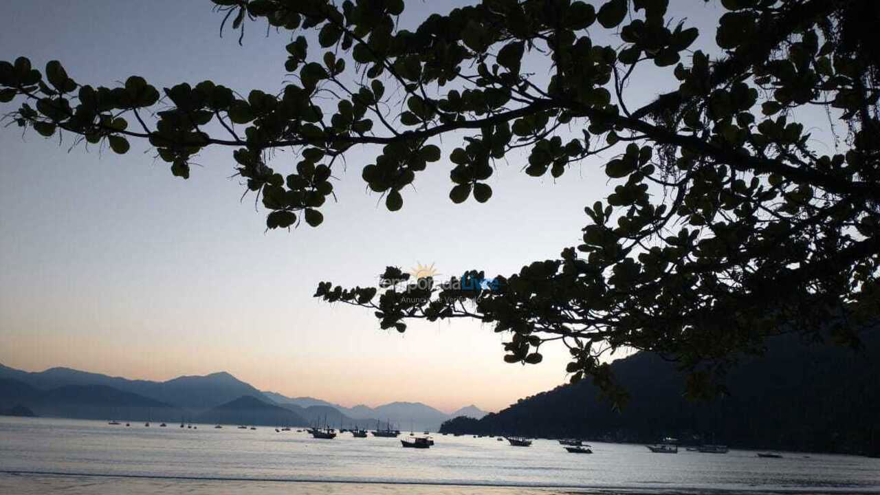
[[[555,440],[524,448],[441,435],[413,450],[348,433],[179,426],[0,417],[0,493],[880,492],[880,459],[849,455],[651,454],[606,443],[568,454]]]

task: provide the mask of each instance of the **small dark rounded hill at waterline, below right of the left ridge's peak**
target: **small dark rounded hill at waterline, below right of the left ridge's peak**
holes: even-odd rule
[[[296,412],[267,403],[253,395],[238,397],[196,416],[198,423],[222,425],[306,426],[309,422]]]

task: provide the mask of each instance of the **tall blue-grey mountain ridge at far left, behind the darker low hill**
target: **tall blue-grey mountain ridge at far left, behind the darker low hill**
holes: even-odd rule
[[[63,367],[32,373],[0,365],[0,379],[4,378],[23,381],[43,390],[66,385],[102,385],[190,410],[208,409],[228,403],[242,395],[265,398],[250,384],[225,372],[205,376],[181,376],[167,381],[150,381],[128,380]]]

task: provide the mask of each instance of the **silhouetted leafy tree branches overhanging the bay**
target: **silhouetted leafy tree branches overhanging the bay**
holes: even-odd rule
[[[471,270],[451,286],[407,286],[389,267],[384,277],[404,284],[380,293],[322,283],[315,294],[369,308],[382,329],[405,331],[413,318],[489,323],[510,335],[511,363],[538,363],[542,344],[561,342],[572,380],[589,376],[609,391],[599,358],[621,347],[723,369],[766,336],[829,321],[856,344],[855,329],[880,309],[874,2],[722,0],[719,55],[689,52],[699,33],[674,24],[663,0],[484,0],[414,31],[397,25],[402,0],[214,4],[240,36],[263,21],[294,33],[284,67],[296,82],[246,99],[211,81],[160,93],[137,76],[80,85],[61,63],[41,73],[18,58],[0,63],[0,101],[23,100],[8,118],[118,153],[146,139],[183,178],[203,148],[231,146],[270,229],[321,224],[333,167],[356,146],[375,151],[363,180],[391,211],[442,162],[438,137],[461,140],[442,162],[454,203],[487,202],[495,160],[518,151],[529,153],[526,174],[554,178],[614,152],[605,164],[614,192],[585,208],[583,244],[559,259],[491,285]],[[598,44],[588,28],[620,41]],[[319,48],[296,34],[310,30]],[[546,85],[528,73],[540,58],[553,67]],[[667,68],[678,87],[634,108],[627,80],[645,64]],[[797,121],[804,107],[846,127],[835,154],[810,147]],[[131,115],[139,130],[128,129]],[[295,149],[296,166],[270,159],[277,148]],[[704,381],[690,380],[692,391],[710,388]]]

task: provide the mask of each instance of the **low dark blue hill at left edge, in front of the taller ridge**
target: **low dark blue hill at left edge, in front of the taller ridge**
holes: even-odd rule
[[[39,416],[84,419],[128,418],[171,420],[181,410],[143,395],[104,385],[65,385],[49,390],[19,380],[0,380],[0,408],[25,406]]]

